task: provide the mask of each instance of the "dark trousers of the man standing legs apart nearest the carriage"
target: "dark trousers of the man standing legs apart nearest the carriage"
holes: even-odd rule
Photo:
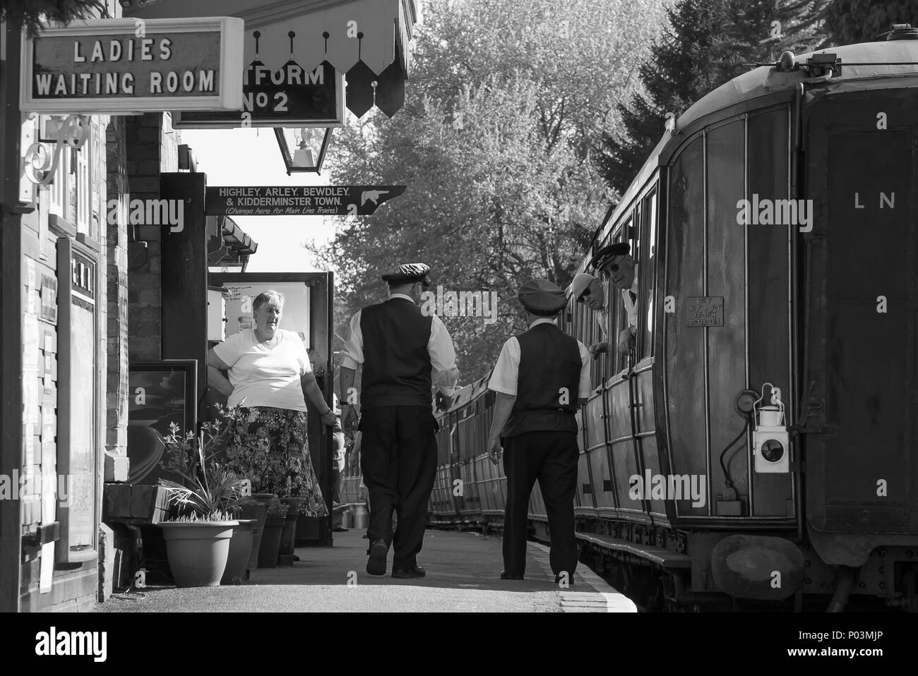
[[[536,480],[542,490],[548,532],[549,561],[555,575],[577,569],[574,494],[577,491],[577,432],[524,432],[504,439],[507,506],[504,512],[504,571],[526,571],[526,528],[529,497]]]

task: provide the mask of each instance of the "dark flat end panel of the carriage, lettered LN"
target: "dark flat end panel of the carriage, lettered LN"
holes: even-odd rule
[[[916,105],[907,95],[827,96],[809,118],[815,218],[800,256],[801,385],[804,403],[812,388],[822,409],[808,424],[817,433],[807,435],[807,515],[823,559],[847,565],[872,549],[866,534],[918,532]],[[845,551],[828,533],[866,537]]]

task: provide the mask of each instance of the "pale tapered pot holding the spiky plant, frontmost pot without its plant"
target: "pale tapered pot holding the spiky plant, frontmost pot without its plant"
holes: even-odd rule
[[[227,567],[229,540],[238,521],[166,522],[169,569],[179,587],[216,587]]]

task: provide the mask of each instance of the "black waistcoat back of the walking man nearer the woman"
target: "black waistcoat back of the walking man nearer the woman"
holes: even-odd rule
[[[432,316],[405,298],[364,307],[360,330],[364,336],[364,374],[360,405],[431,405]]]

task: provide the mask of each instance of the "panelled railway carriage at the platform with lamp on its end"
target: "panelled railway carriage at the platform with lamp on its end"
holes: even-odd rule
[[[631,244],[639,319],[616,355],[613,290],[577,537],[639,605],[918,609],[916,85],[910,28],[782,55],[677,117],[599,227],[592,251]],[[600,339],[573,298],[561,325]],[[442,414],[431,524],[499,526],[492,405],[484,378]]]

